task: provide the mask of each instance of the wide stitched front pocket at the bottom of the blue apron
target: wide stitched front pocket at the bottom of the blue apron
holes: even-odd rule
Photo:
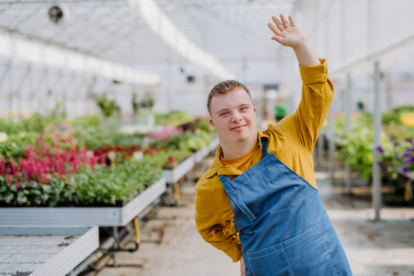
[[[247,254],[255,276],[337,275],[319,224],[285,242]]]

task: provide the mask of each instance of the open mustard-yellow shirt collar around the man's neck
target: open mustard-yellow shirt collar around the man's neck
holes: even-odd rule
[[[259,139],[259,144],[257,147],[262,148],[262,137],[267,137],[262,131],[257,130],[257,138]],[[237,170],[233,168],[233,166],[226,165],[224,166],[221,164],[221,155],[223,155],[223,150],[221,149],[221,146],[219,146],[219,149],[216,152],[213,164],[211,164],[210,169],[208,169],[206,178],[213,177],[214,175],[241,175],[243,172],[240,170]],[[262,157],[262,150],[255,150],[253,153],[253,164],[256,164],[260,158]]]

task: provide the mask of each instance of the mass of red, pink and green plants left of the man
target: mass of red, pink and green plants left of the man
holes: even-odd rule
[[[144,133],[100,121],[55,113],[0,119],[0,206],[122,204],[216,137],[206,119],[184,112],[155,115]]]

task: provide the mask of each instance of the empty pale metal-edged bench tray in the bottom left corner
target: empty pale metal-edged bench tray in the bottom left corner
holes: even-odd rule
[[[0,226],[0,275],[64,276],[98,247],[98,226]]]

